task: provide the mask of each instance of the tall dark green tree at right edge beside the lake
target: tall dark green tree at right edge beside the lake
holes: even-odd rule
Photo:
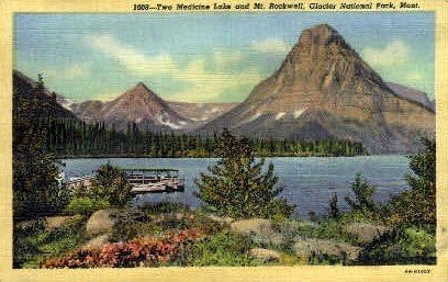
[[[424,149],[410,157],[414,174],[407,176],[410,190],[393,196],[388,205],[389,223],[404,226],[436,225],[436,143],[422,139]]]

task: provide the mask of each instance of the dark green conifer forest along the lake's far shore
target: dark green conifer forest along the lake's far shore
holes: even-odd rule
[[[219,135],[188,135],[141,131],[135,123],[127,131],[109,128],[104,123],[86,124],[72,120],[46,120],[48,150],[57,157],[216,157]],[[328,138],[318,142],[251,138],[258,157],[358,156],[367,155],[362,144]]]

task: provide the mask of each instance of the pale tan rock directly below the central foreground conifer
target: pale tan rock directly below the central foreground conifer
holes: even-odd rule
[[[269,219],[251,218],[236,221],[231,224],[233,232],[249,235],[255,241],[281,244],[283,238],[280,233],[272,228]]]

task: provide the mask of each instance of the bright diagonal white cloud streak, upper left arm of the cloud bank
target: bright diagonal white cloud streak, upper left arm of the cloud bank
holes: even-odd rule
[[[135,75],[166,74],[176,68],[169,54],[159,54],[153,57],[143,55],[142,50],[116,41],[110,34],[86,36],[85,43],[104,55],[116,59]]]

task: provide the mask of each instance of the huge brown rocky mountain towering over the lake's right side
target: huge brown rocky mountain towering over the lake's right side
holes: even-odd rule
[[[393,90],[395,89],[395,90]],[[361,142],[371,154],[413,151],[435,112],[388,86],[327,24],[304,30],[281,67],[239,105],[200,128],[261,138]]]

